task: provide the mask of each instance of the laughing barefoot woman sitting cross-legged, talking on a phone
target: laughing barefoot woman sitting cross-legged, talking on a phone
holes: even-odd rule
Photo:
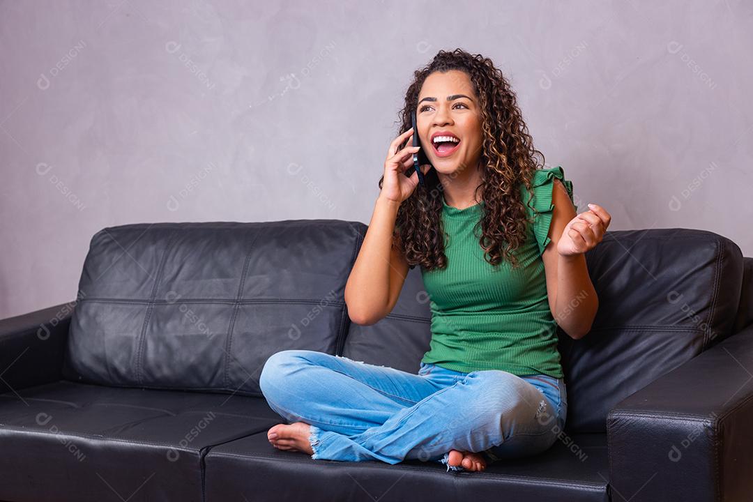
[[[543,452],[567,410],[556,327],[574,339],[590,330],[599,303],[584,253],[611,216],[593,204],[576,214],[562,168],[537,169],[543,155],[515,94],[480,55],[440,51],[416,71],[401,130],[345,300],[353,322],[373,324],[419,265],[430,348],[417,375],[318,351],[273,354],[261,388],[294,423],[268,440],[312,458],[448,470]],[[429,164],[418,186],[418,173],[404,173],[420,148]]]

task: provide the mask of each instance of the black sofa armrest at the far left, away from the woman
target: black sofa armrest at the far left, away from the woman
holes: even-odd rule
[[[0,320],[0,393],[62,379],[75,302]],[[18,394],[17,394],[18,395]]]

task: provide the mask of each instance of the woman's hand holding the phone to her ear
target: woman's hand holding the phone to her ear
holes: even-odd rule
[[[400,145],[403,145],[405,141],[408,141],[408,146],[400,150]],[[421,148],[412,145],[413,127],[403,132],[389,145],[387,160],[384,163],[381,197],[402,203],[410,197],[413,190],[416,190],[416,186],[419,184],[418,172],[413,172],[410,177],[404,174],[410,166],[413,166],[413,154]],[[421,166],[421,172],[425,174],[430,168],[429,164],[424,164]]]

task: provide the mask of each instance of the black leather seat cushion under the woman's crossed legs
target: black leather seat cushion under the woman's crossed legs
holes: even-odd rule
[[[541,455],[495,461],[483,472],[448,471],[434,461],[312,460],[276,449],[266,432],[215,446],[205,463],[206,502],[609,500],[605,434],[563,434]]]

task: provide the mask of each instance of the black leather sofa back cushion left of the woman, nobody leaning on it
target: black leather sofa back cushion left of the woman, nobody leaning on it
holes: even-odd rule
[[[132,224],[91,239],[63,376],[261,397],[271,354],[334,354],[364,224]]]

